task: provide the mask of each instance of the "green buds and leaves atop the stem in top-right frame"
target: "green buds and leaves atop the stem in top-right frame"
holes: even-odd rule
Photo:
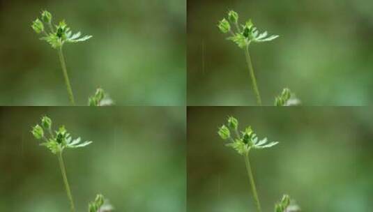
[[[236,31],[231,28],[230,24],[234,24],[236,26]],[[259,33],[257,27],[252,24],[252,20],[248,20],[240,27],[238,24],[238,13],[236,13],[234,10],[229,10],[228,18],[223,18],[218,23],[218,28],[220,31],[222,31],[222,33],[230,32],[231,36],[229,36],[227,39],[232,40],[240,48],[248,47],[250,43],[268,42],[279,37],[277,35],[268,36],[267,31]]]

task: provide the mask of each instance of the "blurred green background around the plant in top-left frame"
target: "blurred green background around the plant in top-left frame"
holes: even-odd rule
[[[69,105],[40,10],[91,40],[64,45],[77,105],[98,86],[116,105],[185,105],[185,1],[0,0],[0,105]]]

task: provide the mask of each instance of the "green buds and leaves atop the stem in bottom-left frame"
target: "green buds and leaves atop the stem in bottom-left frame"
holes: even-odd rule
[[[37,124],[31,132],[36,139],[43,139],[44,142],[40,145],[47,147],[54,154],[62,153],[65,148],[76,149],[92,143],[81,142],[80,137],[72,139],[64,126],[59,127],[59,130],[53,133],[52,120],[47,116],[43,116],[41,122],[41,126]],[[49,135],[46,135],[44,131],[49,132]]]

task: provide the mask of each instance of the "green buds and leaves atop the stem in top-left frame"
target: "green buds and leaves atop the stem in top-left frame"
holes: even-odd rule
[[[58,25],[54,25],[52,22],[52,14],[47,10],[41,13],[40,19],[41,21],[36,19],[31,24],[31,27],[36,33],[43,32],[45,36],[41,37],[40,40],[45,40],[54,49],[61,48],[64,43],[78,43],[92,38],[92,36],[81,37],[82,33],[80,32],[73,33],[64,20],[59,22]],[[44,27],[42,21],[48,25],[48,29]]]

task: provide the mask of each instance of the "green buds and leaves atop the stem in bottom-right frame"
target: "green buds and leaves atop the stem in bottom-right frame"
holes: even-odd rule
[[[227,119],[227,126],[221,126],[218,130],[218,135],[220,135],[222,139],[230,139],[231,142],[226,145],[233,148],[241,155],[248,155],[251,149],[266,149],[278,144],[278,142],[268,143],[266,137],[264,139],[259,139],[251,126],[245,128],[245,131],[241,132],[240,135],[238,133],[238,120],[233,116],[229,116]],[[230,130],[236,132],[236,137],[231,136]]]

